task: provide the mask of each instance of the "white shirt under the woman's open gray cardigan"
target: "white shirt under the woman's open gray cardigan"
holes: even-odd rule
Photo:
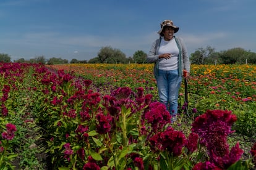
[[[166,53],[171,54],[171,59],[159,59],[159,69],[164,71],[177,70],[179,67],[179,49],[175,38],[172,38],[170,41],[165,41],[164,38],[161,39],[158,54]]]

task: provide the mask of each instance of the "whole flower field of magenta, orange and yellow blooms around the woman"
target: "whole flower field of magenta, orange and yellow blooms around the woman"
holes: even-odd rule
[[[152,71],[0,63],[0,169],[254,168],[255,65],[192,65],[172,124]]]

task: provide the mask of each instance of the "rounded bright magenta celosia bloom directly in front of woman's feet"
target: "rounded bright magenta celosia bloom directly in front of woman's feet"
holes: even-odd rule
[[[171,122],[171,115],[166,106],[160,102],[150,103],[148,110],[145,110],[145,119],[151,124],[152,131],[157,132],[166,124]]]

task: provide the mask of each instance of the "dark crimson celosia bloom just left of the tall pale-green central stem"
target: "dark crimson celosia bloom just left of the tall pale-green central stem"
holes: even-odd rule
[[[112,116],[103,115],[103,113],[98,113],[96,115],[96,119],[98,119],[98,124],[96,125],[97,132],[99,134],[106,134],[111,129]]]

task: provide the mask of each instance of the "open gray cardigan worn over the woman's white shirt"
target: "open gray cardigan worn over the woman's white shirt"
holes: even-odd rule
[[[189,62],[189,55],[187,54],[187,47],[182,38],[174,36],[175,41],[177,43],[177,47],[179,49],[179,76],[182,76],[183,69],[190,72],[190,62]],[[160,47],[161,37],[156,39],[151,46],[150,52],[147,55],[147,62],[148,63],[155,63],[154,66],[154,76],[157,78],[158,76],[158,49]]]

